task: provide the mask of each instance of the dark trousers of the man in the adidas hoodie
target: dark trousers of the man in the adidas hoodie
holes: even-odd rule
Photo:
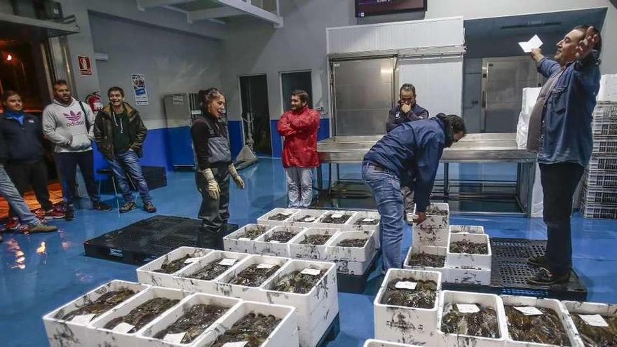
[[[81,170],[83,182],[86,183],[88,196],[93,203],[101,200],[97,189],[97,184],[94,179],[94,156],[92,151],[83,152],[62,152],[55,156],[58,170],[62,180],[62,195],[64,196],[67,205],[73,205],[75,200],[75,189],[77,173],[77,165]]]

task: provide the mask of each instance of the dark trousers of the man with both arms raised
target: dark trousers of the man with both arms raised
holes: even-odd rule
[[[546,259],[549,270],[555,275],[569,273],[572,269],[572,198],[583,170],[585,168],[576,163],[540,164],[548,238]]]

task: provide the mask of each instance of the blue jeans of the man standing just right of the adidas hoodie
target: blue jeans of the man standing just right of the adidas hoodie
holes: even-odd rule
[[[111,172],[114,172],[114,177],[116,177],[116,182],[118,182],[118,188],[120,188],[125,202],[133,202],[133,190],[130,189],[128,180],[126,179],[126,172],[128,172],[128,176],[133,180],[133,183],[137,185],[137,189],[140,191],[140,196],[144,203],[152,201],[150,189],[148,189],[148,184],[142,172],[142,165],[140,165],[140,158],[133,149],[116,154],[113,159],[107,159],[107,163],[109,164]]]

